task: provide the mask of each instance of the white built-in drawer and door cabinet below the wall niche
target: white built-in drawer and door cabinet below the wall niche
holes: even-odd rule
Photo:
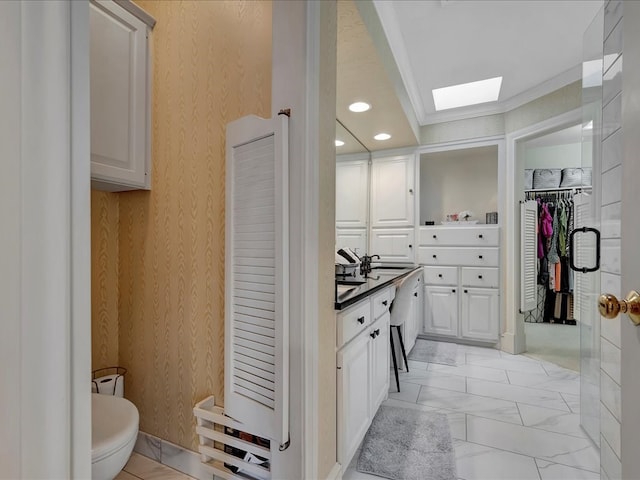
[[[480,342],[500,333],[497,226],[420,227],[424,332]]]

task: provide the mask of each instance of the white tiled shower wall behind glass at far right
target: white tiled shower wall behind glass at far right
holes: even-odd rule
[[[604,11],[602,82],[602,258],[601,291],[618,298],[620,285],[620,207],[622,175],[622,4],[611,0]],[[601,478],[621,478],[620,322],[601,318],[600,463]]]

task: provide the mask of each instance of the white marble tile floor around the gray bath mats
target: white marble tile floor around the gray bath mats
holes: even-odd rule
[[[458,346],[456,366],[409,361],[386,405],[445,413],[459,480],[599,480],[580,427],[579,374],[544,360]],[[344,480],[379,480],[356,470]]]

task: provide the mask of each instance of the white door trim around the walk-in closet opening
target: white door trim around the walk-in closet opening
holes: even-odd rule
[[[506,136],[507,161],[505,168],[504,190],[504,221],[502,225],[511,228],[503,229],[504,253],[504,281],[505,285],[520,285],[520,207],[524,200],[524,163],[516,153],[517,143],[541,133],[558,130],[562,127],[576,125],[582,121],[582,110],[577,108],[556,117],[510,132]],[[501,348],[512,354],[523,353],[526,350],[524,333],[524,316],[520,313],[520,289],[513,288],[505,295],[506,329],[502,335]]]

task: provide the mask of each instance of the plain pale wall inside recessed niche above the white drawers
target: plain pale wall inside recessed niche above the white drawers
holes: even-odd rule
[[[485,223],[498,211],[498,148],[467,148],[420,156],[420,225],[470,210]]]

